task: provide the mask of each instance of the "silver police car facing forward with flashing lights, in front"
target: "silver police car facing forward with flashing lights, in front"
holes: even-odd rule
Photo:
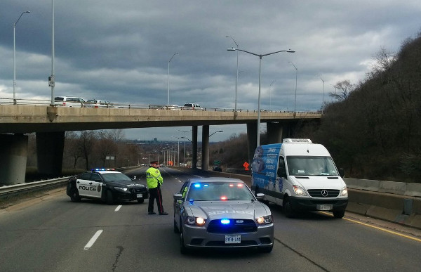
[[[174,198],[174,231],[180,251],[194,248],[257,247],[271,252],[274,222],[269,207],[259,202],[239,179],[201,178],[186,181]]]

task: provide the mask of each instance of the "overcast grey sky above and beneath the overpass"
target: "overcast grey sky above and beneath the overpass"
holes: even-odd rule
[[[51,3],[1,0],[0,98],[13,98],[13,24],[30,11],[15,27],[15,95],[51,100]],[[296,51],[262,58],[262,109],[319,110],[337,82],[363,81],[381,48],[396,52],[414,37],[420,14],[419,0],[55,0],[55,96],[166,105],[169,63],[170,104],[234,108],[237,55],[227,48],[236,48],[236,41],[261,55]],[[237,108],[257,109],[259,58],[238,55]],[[125,134],[168,140],[184,136],[177,129],[191,128]],[[210,127],[210,133],[220,130],[210,141],[246,131],[246,125]]]

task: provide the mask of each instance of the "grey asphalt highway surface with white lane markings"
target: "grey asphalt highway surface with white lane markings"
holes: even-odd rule
[[[145,181],[146,169],[125,173]],[[64,188],[0,209],[0,271],[420,271],[421,230],[350,213],[288,219],[276,205],[269,205],[271,253],[182,255],[173,232],[173,193],[192,175],[171,168],[161,174],[167,216],[148,215],[148,200],[70,202]]]

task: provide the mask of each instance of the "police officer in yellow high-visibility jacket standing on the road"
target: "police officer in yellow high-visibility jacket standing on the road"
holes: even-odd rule
[[[154,212],[154,201],[158,205],[158,212],[160,215],[167,215],[168,212],[163,212],[161,186],[163,179],[161,172],[159,172],[159,163],[157,161],[151,162],[151,167],[146,171],[147,188],[149,188],[149,205],[147,207],[147,214],[156,214]]]

